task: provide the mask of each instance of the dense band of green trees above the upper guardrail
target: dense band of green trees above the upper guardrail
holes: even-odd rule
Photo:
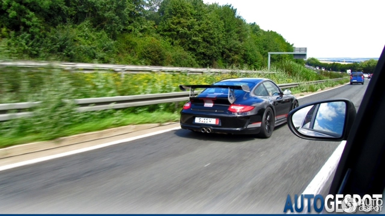
[[[2,0],[0,48],[7,58],[258,69],[293,44],[203,0]]]

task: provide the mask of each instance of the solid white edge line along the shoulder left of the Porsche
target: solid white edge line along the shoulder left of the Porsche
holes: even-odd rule
[[[45,156],[45,157],[41,157],[41,158],[35,158],[35,159],[32,159],[32,160],[27,160],[27,161],[22,161],[22,162],[18,162],[18,163],[8,164],[8,165],[0,166],[0,171],[16,168],[16,167],[19,167],[19,166],[25,166],[25,165],[29,165],[29,164],[39,163],[39,162],[42,162],[42,161],[48,161],[48,160],[52,160],[52,159],[55,159],[55,158],[61,158],[61,157],[69,156],[69,155],[75,155],[75,154],[82,153],[82,152],[85,152],[85,151],[92,151],[92,150],[95,150],[95,149],[98,149],[98,148],[104,148],[104,147],[107,147],[107,146],[112,146],[112,145],[116,145],[116,144],[119,144],[119,143],[125,143],[125,142],[129,142],[129,141],[133,141],[133,140],[138,140],[138,139],[141,139],[141,138],[146,138],[146,137],[149,137],[149,136],[154,136],[154,135],[158,135],[158,134],[161,134],[161,133],[166,133],[166,132],[169,132],[169,131],[179,130],[179,129],[181,129],[180,126],[175,127],[175,128],[166,129],[166,130],[155,131],[155,132],[152,132],[152,133],[147,133],[147,134],[144,134],[144,135],[134,136],[134,137],[126,138],[126,139],[123,139],[123,140],[117,140],[117,141],[112,141],[112,142],[109,142],[109,143],[103,143],[103,144],[100,144],[100,145],[90,146],[90,147],[87,147],[87,148],[81,148],[81,149],[78,149],[78,150],[67,151],[67,152],[64,152],[64,153],[57,154],[57,155],[50,155],[50,156]]]

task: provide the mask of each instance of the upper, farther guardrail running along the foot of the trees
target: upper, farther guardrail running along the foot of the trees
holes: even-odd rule
[[[83,73],[92,73],[95,71],[112,71],[117,73],[175,73],[185,72],[187,74],[203,73],[275,73],[269,71],[256,70],[227,70],[213,68],[185,68],[185,67],[164,67],[164,66],[142,66],[142,65],[112,65],[98,63],[74,63],[74,62],[54,62],[54,61],[0,61],[0,66],[17,66],[25,68],[62,68],[68,71],[78,71]]]

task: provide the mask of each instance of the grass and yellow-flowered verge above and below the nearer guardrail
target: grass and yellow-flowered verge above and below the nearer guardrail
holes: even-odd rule
[[[139,95],[179,91],[179,84],[211,84],[231,77],[264,77],[276,83],[293,83],[343,77],[340,73],[317,74],[293,62],[273,68],[275,74],[236,73],[186,75],[182,73],[128,74],[69,73],[59,69],[2,68],[0,103],[43,101],[31,109],[34,115],[0,122],[0,148],[33,141],[52,140],[62,136],[104,130],[124,125],[179,121],[183,103],[175,103],[77,113],[74,103],[64,99]],[[293,93],[316,91],[346,83],[327,81],[291,88]],[[177,107],[177,108],[176,108]]]

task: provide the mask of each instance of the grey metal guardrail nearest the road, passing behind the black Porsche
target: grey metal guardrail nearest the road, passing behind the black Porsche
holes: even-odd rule
[[[330,79],[342,80],[344,78]],[[293,88],[300,84],[310,83],[322,83],[328,80],[317,80],[308,81],[302,83],[285,83],[279,84],[280,88]],[[197,91],[198,93],[198,91]],[[121,109],[132,106],[145,106],[159,103],[171,103],[179,101],[189,100],[189,91],[182,92],[171,92],[171,93],[159,93],[159,94],[148,94],[148,95],[130,95],[130,96],[114,96],[114,97],[103,97],[103,98],[83,98],[74,99],[75,103],[79,105],[77,111],[97,111],[97,110],[110,110],[110,109]],[[12,118],[24,117],[32,115],[32,112],[20,112],[21,110],[33,108],[39,105],[37,102],[24,102],[24,103],[5,103],[0,104],[0,121],[7,121]],[[7,113],[10,110],[17,110],[17,113]]]

